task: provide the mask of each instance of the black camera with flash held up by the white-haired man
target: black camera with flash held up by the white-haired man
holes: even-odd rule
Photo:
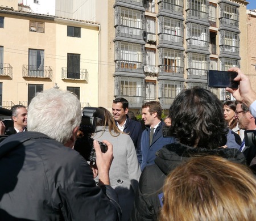
[[[80,124],[80,133],[76,140],[74,149],[86,159],[86,161],[95,162],[96,152],[93,146],[94,139],[92,133],[95,132],[97,121],[104,119],[104,112],[100,108],[85,107],[82,109],[82,121]],[[98,142],[101,152],[106,152],[108,147],[105,143]]]

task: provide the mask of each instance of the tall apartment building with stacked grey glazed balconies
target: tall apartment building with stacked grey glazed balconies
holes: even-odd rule
[[[98,104],[115,97],[166,110],[183,88],[207,86],[207,70],[248,71],[244,0],[56,0],[55,15],[101,24]],[[40,5],[40,0],[39,0]],[[208,88],[221,100],[225,90]]]

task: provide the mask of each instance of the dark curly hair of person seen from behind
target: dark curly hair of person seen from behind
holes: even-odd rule
[[[212,92],[200,87],[183,90],[169,111],[170,135],[180,143],[208,149],[226,144],[228,127],[222,103]]]

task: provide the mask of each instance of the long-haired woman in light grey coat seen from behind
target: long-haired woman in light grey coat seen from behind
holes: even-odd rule
[[[93,139],[113,145],[113,162],[109,171],[110,185],[115,189],[122,209],[122,220],[128,220],[133,206],[141,169],[132,139],[115,125],[112,114],[105,108],[104,119],[97,122]],[[97,177],[96,177],[97,182]]]

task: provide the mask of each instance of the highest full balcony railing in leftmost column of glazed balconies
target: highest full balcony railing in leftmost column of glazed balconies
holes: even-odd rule
[[[115,28],[115,37],[117,36],[143,40],[143,30],[140,28],[118,25]]]

